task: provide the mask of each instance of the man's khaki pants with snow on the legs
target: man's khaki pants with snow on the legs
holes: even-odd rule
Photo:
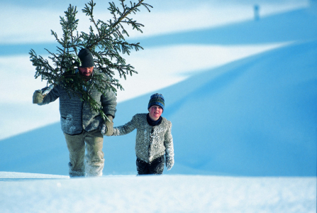
[[[103,135],[99,130],[78,135],[64,133],[69,151],[69,177],[101,176],[104,168]],[[85,142],[87,153],[85,154]],[[85,159],[84,159],[85,158]],[[85,161],[85,162],[84,162]]]

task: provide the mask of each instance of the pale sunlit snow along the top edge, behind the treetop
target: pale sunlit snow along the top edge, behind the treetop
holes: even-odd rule
[[[59,23],[62,15],[61,11],[65,11],[69,4],[77,6],[77,11],[79,11],[77,13],[77,18],[79,18],[78,30],[87,31],[90,26],[89,18],[81,12],[87,2],[85,0],[57,0],[54,3],[40,0],[1,2],[3,6],[0,9],[0,19],[6,21],[1,21],[0,23],[0,28],[3,29],[0,34],[0,44],[52,42],[50,30],[52,29],[59,35],[62,33]],[[97,0],[94,2],[96,3],[96,9],[94,9],[95,18],[101,20],[111,18],[109,13],[104,13],[109,6],[108,1]],[[253,18],[254,4],[260,4],[260,16],[265,17],[294,9],[306,8],[309,3],[307,0],[279,0],[275,2],[260,0],[256,2],[240,1],[240,3],[218,0],[204,0],[197,3],[189,0],[150,0],[148,4],[153,6],[150,13],[145,8],[142,8],[141,13],[133,16],[133,19],[140,21],[146,26],[143,34],[132,31],[130,36],[133,38],[217,27],[228,23],[250,20]],[[206,17],[208,17],[208,20],[206,20]],[[32,21],[32,25],[29,24],[30,21]],[[47,23],[50,24],[48,25]],[[157,25],[157,23],[160,24]]]

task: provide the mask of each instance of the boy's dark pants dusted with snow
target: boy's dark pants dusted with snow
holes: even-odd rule
[[[137,158],[136,169],[138,170],[138,175],[162,175],[164,170],[164,163],[164,155],[156,158],[150,163],[146,163],[140,158]]]

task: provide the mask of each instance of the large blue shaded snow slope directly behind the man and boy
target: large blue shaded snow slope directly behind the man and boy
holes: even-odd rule
[[[316,41],[296,43],[157,91],[173,124],[167,173],[315,176],[316,56]],[[118,104],[115,126],[145,112],[149,97]],[[104,174],[135,173],[134,141],[135,132],[105,138]],[[0,143],[1,170],[67,175],[60,124]]]

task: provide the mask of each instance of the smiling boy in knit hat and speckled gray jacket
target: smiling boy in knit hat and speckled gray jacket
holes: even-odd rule
[[[152,94],[148,114],[135,114],[127,124],[113,128],[113,136],[137,129],[135,155],[138,175],[162,175],[165,163],[167,170],[174,165],[172,123],[161,116],[164,107],[162,94]]]

